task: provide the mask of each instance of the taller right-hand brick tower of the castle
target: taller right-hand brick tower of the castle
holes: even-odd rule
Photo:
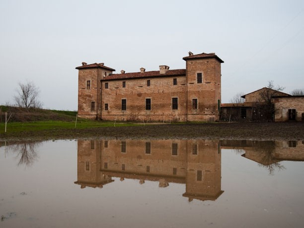
[[[187,121],[216,121],[221,106],[221,63],[215,53],[184,57],[187,81]]]

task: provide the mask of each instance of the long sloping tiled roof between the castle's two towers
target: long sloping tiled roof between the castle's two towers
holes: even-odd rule
[[[165,76],[186,76],[186,69],[169,70],[165,74],[159,74],[159,71],[135,72],[125,74],[113,74],[106,76],[104,80],[131,79],[142,77],[165,77]]]

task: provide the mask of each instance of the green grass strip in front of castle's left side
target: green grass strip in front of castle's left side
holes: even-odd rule
[[[116,127],[122,126],[137,126],[136,123],[128,122],[116,122]],[[114,127],[113,121],[91,121],[80,120],[77,121],[76,129],[85,128],[100,128],[100,127]],[[74,129],[75,122],[65,121],[37,121],[37,122],[8,122],[6,126],[6,133],[18,133],[18,132],[33,132],[33,131],[47,131],[47,130],[64,130]],[[0,123],[0,134],[5,131],[5,124]]]

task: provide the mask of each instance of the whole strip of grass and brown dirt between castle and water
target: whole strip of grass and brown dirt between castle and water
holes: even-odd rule
[[[304,140],[304,123],[137,124],[104,121],[10,123],[0,140],[81,138]]]

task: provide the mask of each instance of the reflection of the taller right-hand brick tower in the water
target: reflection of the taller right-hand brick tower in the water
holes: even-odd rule
[[[219,141],[188,140],[186,192],[183,196],[216,200],[221,190],[221,149]]]

